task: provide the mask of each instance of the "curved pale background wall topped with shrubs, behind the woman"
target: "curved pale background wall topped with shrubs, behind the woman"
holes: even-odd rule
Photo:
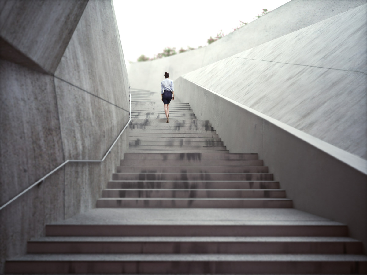
[[[169,72],[171,78],[176,80],[182,74],[366,3],[366,0],[292,0],[206,47],[163,59],[131,63],[128,69],[131,85],[159,91],[164,72]],[[350,22],[353,22],[352,18]]]

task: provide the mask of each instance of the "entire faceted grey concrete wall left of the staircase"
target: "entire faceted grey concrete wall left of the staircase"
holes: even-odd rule
[[[22,14],[22,26],[9,25],[1,39],[38,67],[1,49],[0,205],[66,159],[101,159],[128,121],[128,77],[112,1],[3,1],[0,6],[8,3],[11,9],[1,12],[0,21],[17,22]],[[73,26],[68,20],[50,23],[51,17],[32,13],[35,7],[54,18],[80,16],[71,20]],[[47,30],[28,29],[33,16],[44,20],[37,26],[48,25]],[[66,39],[61,32],[57,39],[53,27],[72,33]],[[3,36],[14,32],[20,40]],[[43,41],[44,55],[28,51],[33,41]],[[43,235],[46,223],[94,208],[127,150],[128,129],[102,164],[66,164],[0,210],[0,273],[5,258],[25,253],[26,241]]]

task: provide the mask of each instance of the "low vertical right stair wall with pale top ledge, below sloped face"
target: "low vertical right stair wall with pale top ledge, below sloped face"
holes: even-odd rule
[[[347,224],[366,248],[366,160],[185,78],[177,84],[182,100],[199,120],[210,120],[230,153],[258,153],[295,208]]]

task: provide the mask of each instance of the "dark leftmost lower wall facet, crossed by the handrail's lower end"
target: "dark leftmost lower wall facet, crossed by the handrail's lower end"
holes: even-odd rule
[[[52,76],[0,59],[0,91],[3,205],[64,159]],[[63,217],[64,180],[61,169],[0,210],[0,274],[7,257],[25,253],[30,236]]]

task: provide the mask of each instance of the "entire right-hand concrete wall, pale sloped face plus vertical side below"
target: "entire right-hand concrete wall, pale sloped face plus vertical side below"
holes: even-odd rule
[[[297,209],[367,248],[367,4],[180,77],[231,153],[258,153]],[[353,20],[351,20],[351,18]]]

